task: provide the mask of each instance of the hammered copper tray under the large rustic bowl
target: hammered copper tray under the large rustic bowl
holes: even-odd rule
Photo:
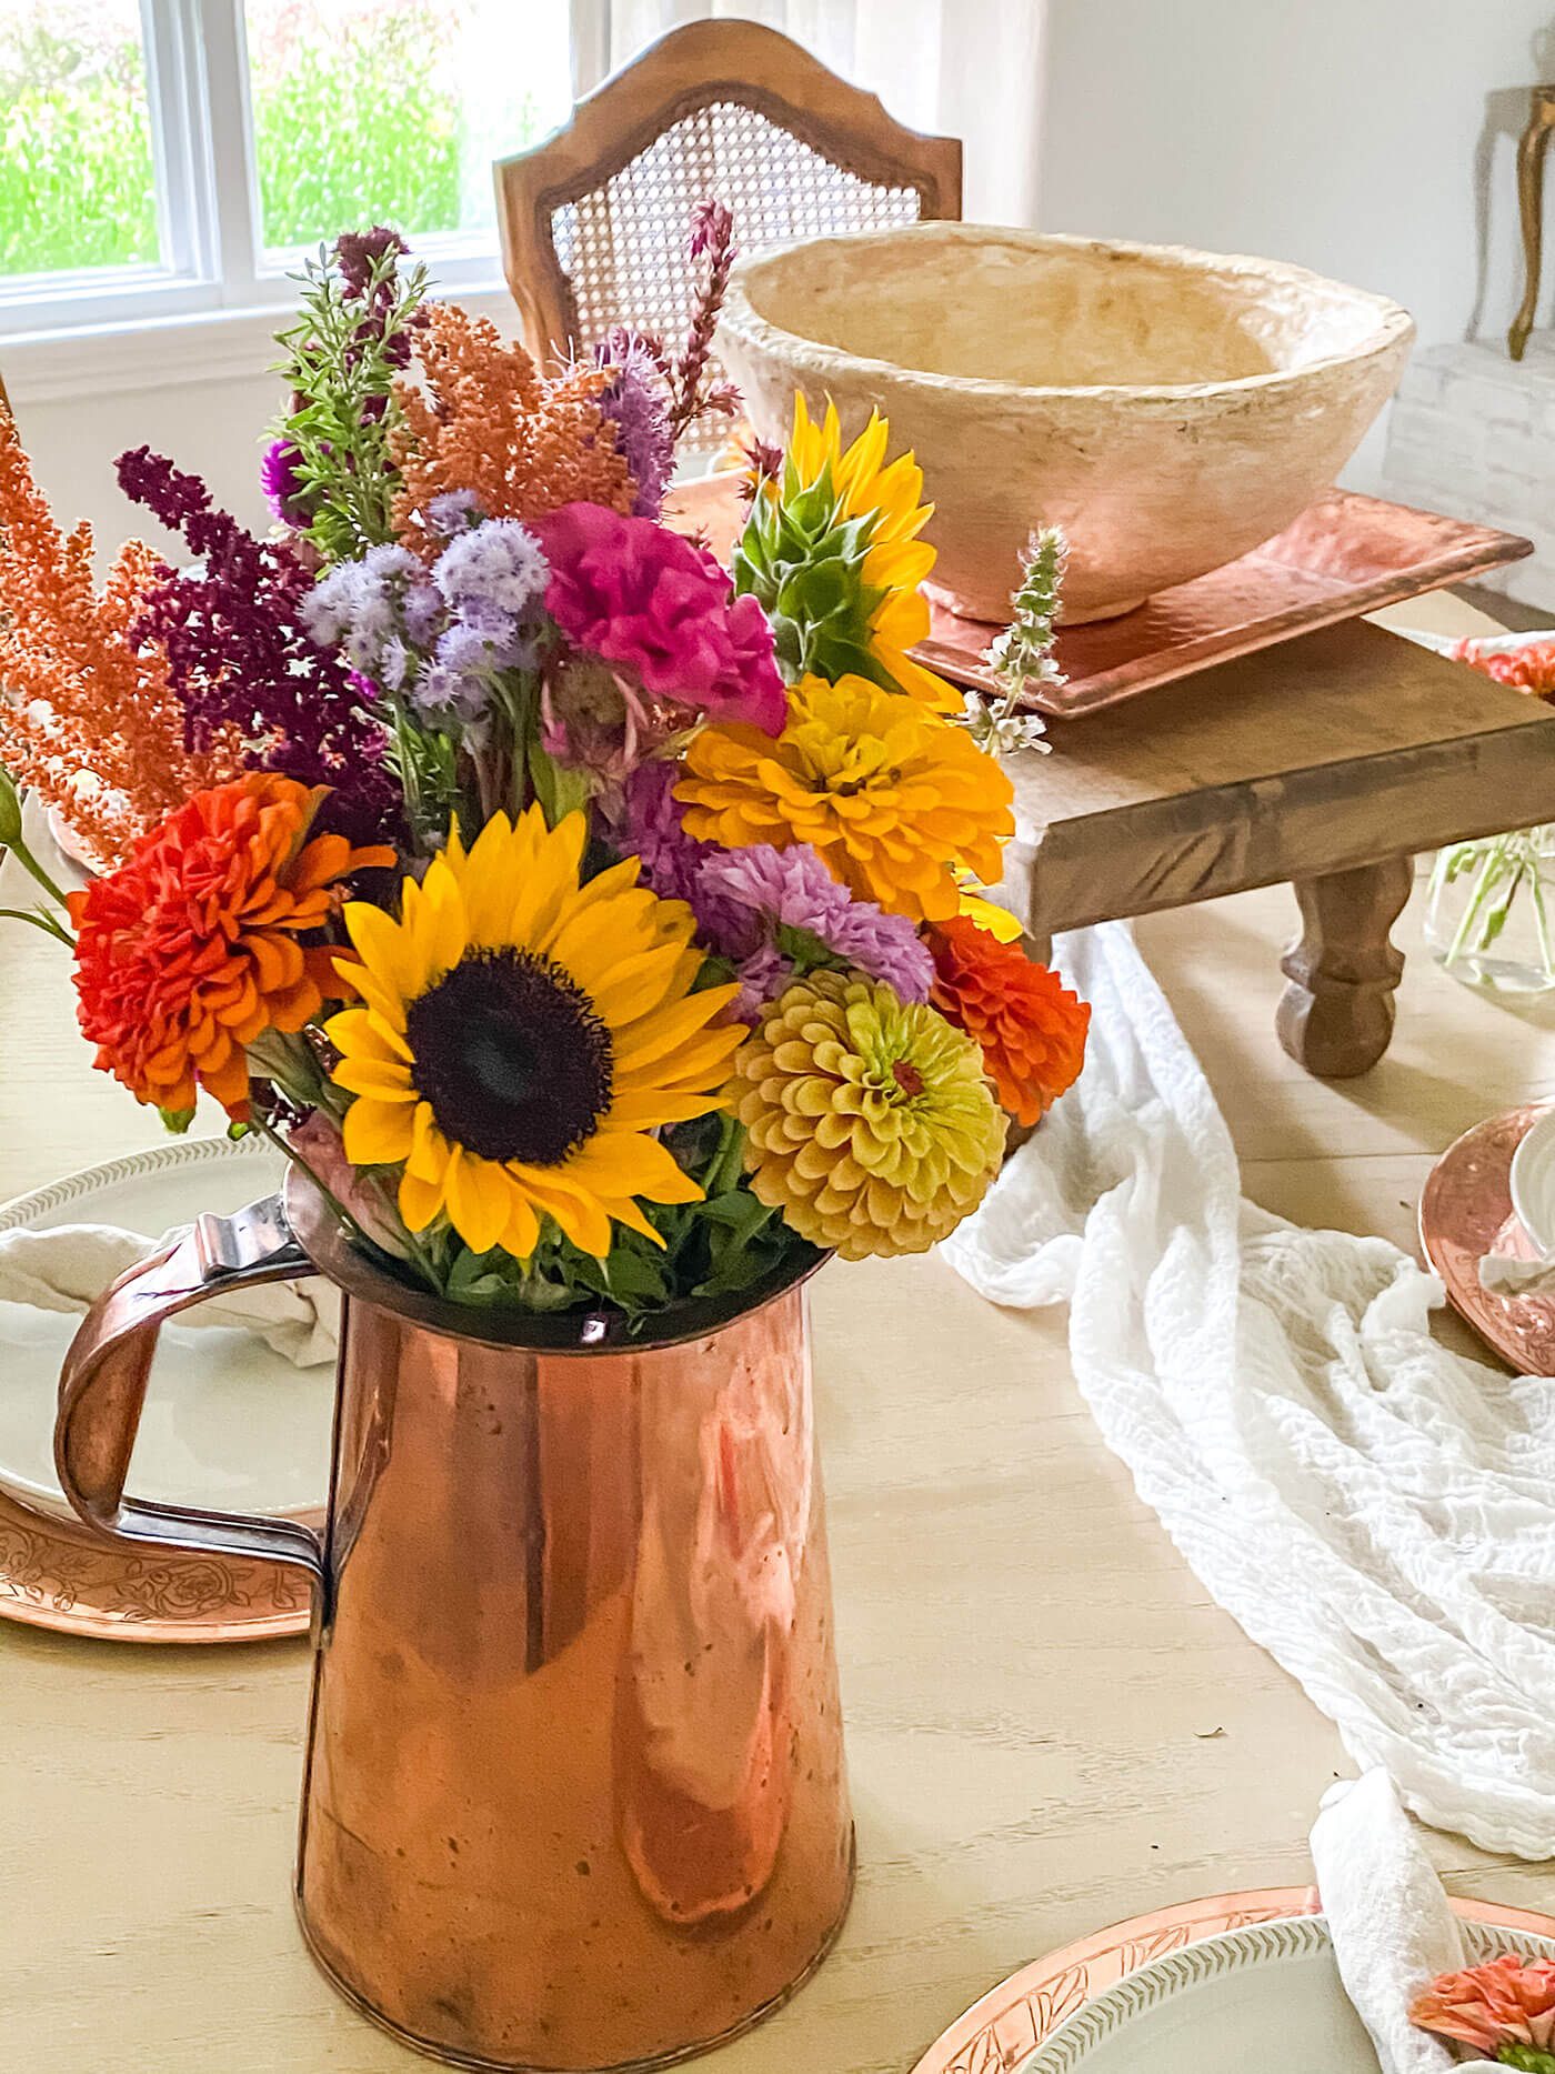
[[[1441,591],[1526,554],[1532,541],[1516,533],[1335,489],[1240,562],[1157,591],[1122,618],[1059,630],[1053,660],[1068,682],[1030,703],[1053,720],[1095,713],[1211,664]],[[995,691],[983,649],[997,633],[983,620],[935,610],[931,639],[914,653],[956,684]]]

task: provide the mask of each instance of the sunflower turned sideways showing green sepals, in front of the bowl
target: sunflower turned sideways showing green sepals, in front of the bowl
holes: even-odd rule
[[[792,674],[867,676],[958,711],[960,693],[908,653],[929,637],[935,550],[918,533],[933,504],[912,454],[885,463],[887,442],[875,411],[844,448],[836,404],[817,425],[796,394],[782,479],[763,483],[734,554],[736,587],[767,608]]]

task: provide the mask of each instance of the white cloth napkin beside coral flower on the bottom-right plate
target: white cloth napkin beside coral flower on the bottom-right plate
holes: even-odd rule
[[[1414,1997],[1466,1964],[1464,1933],[1385,1771],[1329,1788],[1312,1825],[1312,1867],[1344,1991],[1383,2074],[1460,2066],[1443,2039],[1410,2022]]]

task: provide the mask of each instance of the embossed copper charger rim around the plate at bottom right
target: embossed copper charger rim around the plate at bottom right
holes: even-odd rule
[[[1555,1916],[1497,1902],[1453,1900],[1470,1923],[1555,1937]],[[1105,1931],[1059,1945],[999,1981],[950,2030],[943,2030],[912,2074],[1001,2074],[1018,2068],[1053,2030],[1103,1989],[1163,1952],[1178,1952],[1221,1931],[1321,1912],[1317,1887],[1246,1887],[1209,1894],[1174,1908],[1128,1916]]]

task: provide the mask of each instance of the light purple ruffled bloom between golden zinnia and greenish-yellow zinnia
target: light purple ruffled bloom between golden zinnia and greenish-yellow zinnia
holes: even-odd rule
[[[761,948],[771,946],[790,956],[792,944],[784,944],[780,931],[796,929],[844,964],[883,979],[904,1002],[929,1000],[935,966],[916,927],[904,915],[877,908],[873,900],[854,900],[809,842],[796,842],[788,850],[775,850],[769,842],[724,850],[699,863],[697,879],[699,894],[732,902],[757,923]],[[732,954],[738,956],[738,950]],[[748,983],[759,979],[748,966],[740,977]]]

